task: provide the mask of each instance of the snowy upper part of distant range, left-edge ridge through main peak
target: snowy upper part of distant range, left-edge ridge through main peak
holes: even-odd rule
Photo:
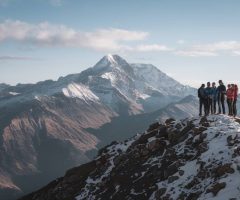
[[[0,91],[2,96],[11,98],[11,102],[28,101],[35,99],[35,96],[40,98],[63,92],[67,97],[106,103],[114,111],[119,102],[133,104],[141,112],[158,110],[196,93],[194,89],[185,87],[151,64],[129,64],[119,55],[111,54],[80,74],[68,75],[58,81],[49,80],[2,90],[0,86]],[[3,98],[0,103],[5,105],[10,101]]]

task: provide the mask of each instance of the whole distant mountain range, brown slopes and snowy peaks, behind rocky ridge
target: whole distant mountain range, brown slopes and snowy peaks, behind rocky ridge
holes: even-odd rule
[[[40,187],[149,120],[196,115],[195,94],[153,65],[118,55],[57,81],[0,84],[0,198]]]

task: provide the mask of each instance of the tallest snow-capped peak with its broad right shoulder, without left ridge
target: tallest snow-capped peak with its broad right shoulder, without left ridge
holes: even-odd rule
[[[115,109],[117,101],[128,102],[135,112],[152,112],[196,93],[153,65],[129,64],[118,55],[104,56],[93,68],[83,71],[77,81],[88,85],[110,107]],[[114,104],[106,98],[109,91],[115,97]]]

